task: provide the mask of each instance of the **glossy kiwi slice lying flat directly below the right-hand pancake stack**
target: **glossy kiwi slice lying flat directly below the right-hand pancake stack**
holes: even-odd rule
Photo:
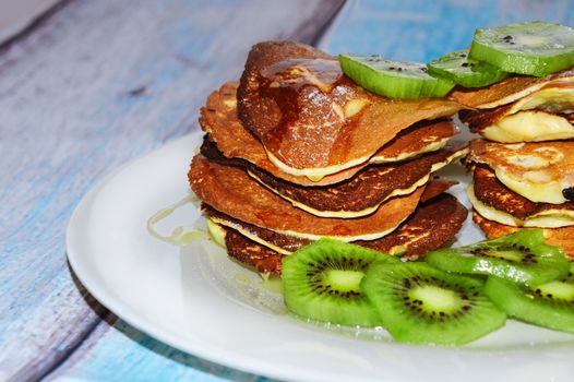
[[[427,262],[449,272],[494,275],[525,285],[560,279],[570,268],[562,251],[545,243],[541,229],[523,229],[494,240],[431,251]]]

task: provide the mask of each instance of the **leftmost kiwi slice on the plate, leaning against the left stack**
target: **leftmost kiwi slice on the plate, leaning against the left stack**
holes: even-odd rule
[[[383,252],[323,238],[283,260],[285,305],[294,313],[334,324],[376,326],[376,310],[359,285],[375,260],[399,262]]]

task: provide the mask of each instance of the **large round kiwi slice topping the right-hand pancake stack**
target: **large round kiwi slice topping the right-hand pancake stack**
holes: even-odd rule
[[[539,21],[477,29],[468,57],[504,72],[542,76],[574,64],[574,29]]]

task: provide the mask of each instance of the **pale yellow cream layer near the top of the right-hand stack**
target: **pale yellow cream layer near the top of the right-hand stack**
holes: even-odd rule
[[[574,138],[574,127],[564,117],[528,110],[506,116],[480,134],[502,143],[555,141]]]

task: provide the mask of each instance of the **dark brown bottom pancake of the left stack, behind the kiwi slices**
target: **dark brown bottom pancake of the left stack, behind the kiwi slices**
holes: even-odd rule
[[[204,212],[210,219],[225,229],[225,246],[228,254],[259,272],[280,275],[282,258],[311,242],[238,222],[208,206]],[[451,242],[461,229],[466,215],[466,208],[456,198],[443,193],[422,203],[397,230],[384,238],[354,243],[392,253],[404,260],[417,260],[427,252]],[[231,228],[229,224],[231,220],[238,222],[239,231]],[[254,236],[253,232],[256,235]],[[296,242],[298,244],[294,247]],[[286,249],[282,247],[285,243],[288,243]]]

